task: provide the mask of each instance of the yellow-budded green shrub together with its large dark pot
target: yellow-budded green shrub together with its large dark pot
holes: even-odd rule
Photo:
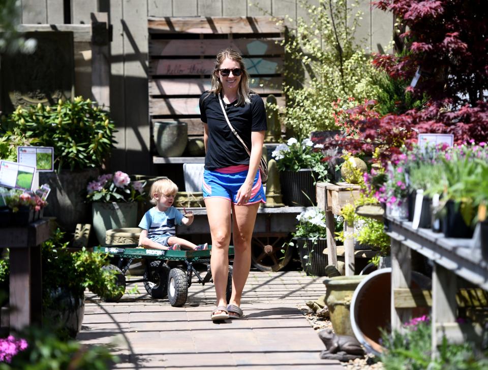
[[[90,210],[81,193],[109,156],[114,131],[108,112],[81,96],[73,101],[59,99],[53,106],[19,106],[0,123],[4,146],[27,142],[54,148],[56,172],[39,173],[39,181],[52,189],[46,216],[56,216],[66,230],[74,230],[77,223],[89,223]],[[13,150],[12,144],[2,150],[0,142],[0,153],[16,160]]]

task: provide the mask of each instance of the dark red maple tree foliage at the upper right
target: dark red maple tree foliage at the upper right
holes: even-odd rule
[[[402,114],[372,115],[350,121],[356,134],[336,137],[327,146],[353,154],[380,148],[382,161],[394,160],[400,147],[411,147],[418,132],[452,133],[456,143],[488,139],[488,6],[483,0],[379,0],[400,31],[395,55],[376,55],[373,63],[392,79],[412,79],[414,95],[429,103]],[[406,31],[406,29],[408,29]],[[346,118],[347,119],[347,118]],[[352,120],[352,117],[351,117]]]

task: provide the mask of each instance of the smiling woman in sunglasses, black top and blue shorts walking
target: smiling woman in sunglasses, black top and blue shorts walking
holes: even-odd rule
[[[251,268],[256,214],[259,203],[266,203],[258,171],[266,112],[261,97],[249,89],[249,75],[237,52],[225,49],[217,54],[211,89],[200,96],[200,116],[205,143],[202,188],[212,239],[210,267],[217,295],[211,319],[240,318],[242,290]],[[231,233],[235,254],[232,296],[227,305]]]

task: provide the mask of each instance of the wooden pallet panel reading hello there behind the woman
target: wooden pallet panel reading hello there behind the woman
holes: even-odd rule
[[[284,105],[284,48],[277,44],[284,28],[270,17],[150,17],[147,27],[151,121],[184,120],[190,136],[202,136],[198,99],[210,88],[216,54],[226,47],[243,56],[253,90],[263,99],[275,94]]]

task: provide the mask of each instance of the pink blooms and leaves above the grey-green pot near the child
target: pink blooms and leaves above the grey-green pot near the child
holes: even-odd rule
[[[143,201],[145,181],[131,181],[129,175],[122,171],[100,175],[88,182],[86,198],[92,201],[111,203],[112,201]]]

